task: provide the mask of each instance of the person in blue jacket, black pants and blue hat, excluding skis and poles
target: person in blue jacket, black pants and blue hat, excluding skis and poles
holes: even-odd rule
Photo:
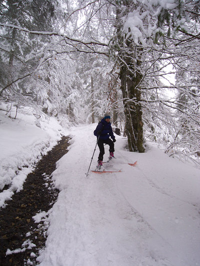
[[[105,153],[104,151],[104,143],[109,145],[109,160],[111,160],[114,157],[114,142],[115,137],[112,131],[112,127],[110,124],[110,115],[105,114],[104,118],[101,119],[101,121],[98,123],[96,129],[94,130],[93,134],[98,138],[98,148],[99,148],[99,155],[98,155],[98,165],[97,169],[101,169],[102,161],[103,161],[103,155]],[[111,139],[109,138],[111,137]]]

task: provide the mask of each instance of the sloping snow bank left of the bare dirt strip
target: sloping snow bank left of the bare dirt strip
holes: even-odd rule
[[[9,115],[14,117],[15,110]],[[32,108],[19,110],[16,119],[0,111],[0,207],[22,189],[34,164],[66,134],[55,118],[36,115]]]

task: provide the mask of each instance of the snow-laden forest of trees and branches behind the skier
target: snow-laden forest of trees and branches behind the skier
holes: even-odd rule
[[[37,126],[43,115],[70,126],[109,112],[129,151],[153,141],[199,166],[199,8],[198,0],[0,0],[1,110],[16,118],[29,106]]]

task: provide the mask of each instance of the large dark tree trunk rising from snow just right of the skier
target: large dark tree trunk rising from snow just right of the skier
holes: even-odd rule
[[[118,4],[118,1],[116,1]],[[116,7],[116,25],[118,46],[118,62],[120,65],[120,81],[125,113],[125,133],[128,139],[129,151],[144,152],[143,123],[141,111],[141,91],[139,84],[142,75],[139,72],[142,49],[135,46],[131,39],[126,39],[121,31],[120,4]],[[124,45],[125,42],[125,45]]]

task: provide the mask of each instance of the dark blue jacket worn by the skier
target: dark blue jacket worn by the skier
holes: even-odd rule
[[[96,129],[94,130],[94,136],[98,137],[99,133],[100,133],[99,139],[106,140],[109,137],[111,137],[112,140],[115,139],[110,122],[107,123],[104,120],[104,118],[101,119],[100,123],[97,125]]]

